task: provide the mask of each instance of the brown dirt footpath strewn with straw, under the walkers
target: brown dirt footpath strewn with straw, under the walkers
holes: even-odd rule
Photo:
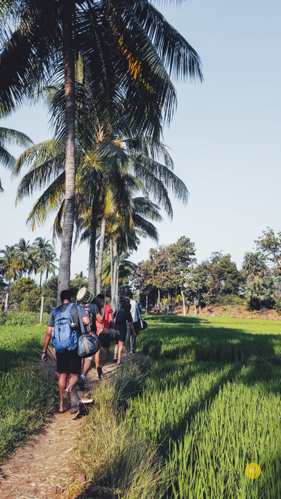
[[[109,376],[116,368],[103,368]],[[94,371],[89,371],[85,388],[90,391],[95,383]],[[83,392],[78,392],[80,396]],[[71,397],[74,405],[75,397]],[[0,468],[0,499],[55,499],[59,498],[74,479],[84,477],[75,473],[69,459],[80,419],[72,419],[70,412],[54,414],[49,424]]]

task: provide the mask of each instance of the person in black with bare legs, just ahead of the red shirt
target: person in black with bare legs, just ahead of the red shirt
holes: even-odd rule
[[[118,335],[117,340],[115,340],[113,362],[116,362],[117,364],[121,363],[123,345],[126,340],[126,334],[127,334],[127,323],[129,324],[131,330],[130,334],[133,337],[135,336],[133,320],[130,313],[130,306],[131,306],[130,300],[125,298],[124,301],[121,303],[119,310],[117,310],[113,314],[115,321],[115,328],[117,330],[117,335]]]

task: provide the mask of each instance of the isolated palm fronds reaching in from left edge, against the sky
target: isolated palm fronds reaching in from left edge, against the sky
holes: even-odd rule
[[[16,145],[19,147],[29,147],[32,144],[31,139],[24,133],[17,132],[11,128],[0,127],[0,163],[4,168],[12,170],[15,164],[15,158],[6,149],[7,145]],[[0,179],[0,192],[3,192]]]

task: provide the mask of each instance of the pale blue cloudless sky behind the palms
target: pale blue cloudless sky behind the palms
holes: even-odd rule
[[[160,5],[162,3],[162,5]],[[177,111],[164,142],[174,172],[189,191],[186,207],[172,200],[173,220],[157,224],[159,244],[184,235],[195,242],[197,261],[212,251],[230,253],[241,266],[245,251],[266,227],[280,223],[281,4],[277,0],[188,0],[157,6],[200,55],[202,84],[176,83]],[[26,133],[33,142],[51,137],[46,110],[24,107],[0,126]],[[11,149],[14,155],[20,152]],[[51,220],[31,232],[25,225],[37,199],[14,206],[19,178],[0,168],[0,249],[20,237],[51,239]],[[156,245],[142,240],[131,260],[148,257]],[[59,256],[60,247],[56,244]],[[87,275],[85,244],[72,254],[71,276]]]

